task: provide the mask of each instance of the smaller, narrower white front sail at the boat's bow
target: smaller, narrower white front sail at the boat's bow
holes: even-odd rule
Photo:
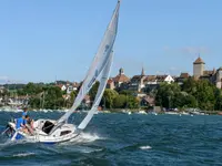
[[[98,106],[99,106],[99,104],[101,102],[103,92],[104,92],[105,86],[107,86],[108,79],[110,76],[110,70],[111,70],[111,65],[112,65],[112,58],[113,58],[113,52],[111,52],[111,54],[109,56],[109,61],[108,61],[104,70],[102,71],[102,75],[101,75],[101,79],[100,79],[100,85],[98,87],[98,92],[97,92],[93,105],[92,105],[91,110],[89,111],[88,115],[84,117],[84,120],[78,126],[79,129],[84,129],[87,127],[88,123],[91,121],[92,116],[94,115],[94,113],[98,110]]]

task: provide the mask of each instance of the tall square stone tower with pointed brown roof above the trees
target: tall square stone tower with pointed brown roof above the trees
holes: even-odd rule
[[[203,75],[204,65],[205,63],[200,56],[195,60],[195,62],[193,62],[193,76],[195,79],[199,79],[201,75]]]

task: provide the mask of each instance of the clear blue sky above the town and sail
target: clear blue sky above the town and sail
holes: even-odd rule
[[[0,82],[80,82],[117,0],[0,1]],[[111,76],[222,66],[221,0],[122,0]]]

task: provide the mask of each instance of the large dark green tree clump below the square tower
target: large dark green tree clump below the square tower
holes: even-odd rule
[[[222,92],[206,80],[188,79],[178,83],[163,83],[157,91],[155,104],[167,108],[199,107],[203,111],[222,110]]]

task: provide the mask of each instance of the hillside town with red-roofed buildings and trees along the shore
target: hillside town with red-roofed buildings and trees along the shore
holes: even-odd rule
[[[123,69],[119,70],[119,73],[114,77],[110,77],[107,83],[107,93],[104,93],[104,97],[101,101],[101,108],[152,108],[160,107],[158,110],[176,110],[176,107],[199,107],[201,110],[221,110],[222,108],[222,97],[219,98],[210,98],[209,96],[205,97],[205,102],[208,105],[203,105],[201,102],[203,98],[199,98],[196,92],[191,92],[188,90],[186,85],[190,82],[188,80],[193,80],[195,83],[195,89],[199,90],[199,84],[208,82],[209,85],[204,84],[204,89],[206,90],[208,86],[216,87],[214,90],[212,87],[212,93],[216,93],[220,91],[221,96],[221,89],[222,89],[222,68],[213,69],[212,71],[205,71],[205,63],[199,56],[193,62],[193,75],[189,73],[181,73],[179,76],[165,74],[165,75],[148,75],[144,72],[144,68],[138,75],[133,75],[132,77],[127,76]],[[199,83],[200,82],[200,83]],[[185,83],[185,85],[184,85]],[[176,84],[176,85],[175,85]],[[0,86],[0,106],[10,107],[10,108],[18,108],[22,107],[23,105],[30,105],[34,108],[68,108],[71,106],[74,97],[78,94],[79,87],[81,83],[77,82],[69,82],[69,81],[56,81],[54,83],[50,84],[33,84],[29,83],[27,85],[10,85],[4,84]],[[163,85],[168,86],[164,87]],[[193,85],[193,84],[192,84]],[[173,87],[176,86],[176,87]],[[185,87],[186,86],[186,87]],[[194,85],[193,85],[194,86]],[[201,85],[200,85],[201,86]],[[180,87],[180,90],[178,89]],[[171,92],[169,94],[161,94],[161,90],[167,89]],[[174,90],[176,91],[174,92]],[[165,92],[168,92],[164,90]],[[204,91],[205,91],[204,90]],[[209,90],[209,89],[208,89]],[[56,92],[58,91],[58,92]],[[59,92],[60,91],[60,92]],[[91,106],[93,102],[93,95],[95,94],[95,90],[92,89],[83,100],[83,108],[88,108]],[[108,96],[112,93],[112,101],[109,101]],[[181,91],[181,94],[188,97],[188,95],[193,96],[190,103],[182,103],[178,102],[176,98],[184,101],[182,97],[178,95],[178,92]],[[209,90],[210,91],[210,90]],[[174,92],[172,94],[172,92]],[[201,87],[200,87],[201,92]],[[57,94],[53,96],[53,94]],[[114,100],[115,95],[115,100]],[[118,97],[117,97],[118,96]],[[129,98],[129,97],[133,98]],[[204,96],[204,95],[202,95]],[[119,100],[117,100],[119,98]],[[219,101],[216,101],[219,100]],[[221,100],[221,101],[220,101]],[[122,103],[120,103],[122,101]],[[131,101],[131,103],[130,103]],[[176,104],[179,103],[179,104]],[[218,103],[218,105],[216,105]],[[216,105],[216,106],[215,106]]]

